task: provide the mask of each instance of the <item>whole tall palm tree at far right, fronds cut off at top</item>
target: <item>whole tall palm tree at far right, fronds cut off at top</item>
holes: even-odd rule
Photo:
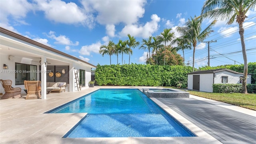
[[[239,34],[242,44],[242,53],[244,58],[244,76],[242,82],[241,93],[247,93],[247,56],[244,43],[244,28],[243,23],[247,18],[246,13],[248,10],[253,10],[256,6],[256,0],[206,0],[202,7],[202,16],[204,18],[210,17],[220,20],[228,20],[227,24],[232,24],[236,19],[239,26]]]

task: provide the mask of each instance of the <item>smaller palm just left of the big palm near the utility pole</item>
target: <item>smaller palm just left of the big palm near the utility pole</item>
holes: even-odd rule
[[[191,43],[186,40],[186,36],[185,36],[185,38],[179,37],[179,38],[174,39],[172,41],[172,44],[178,44],[178,46],[174,47],[173,50],[176,50],[176,51],[182,50],[183,66],[185,66],[184,50],[187,50],[187,49],[191,50]]]

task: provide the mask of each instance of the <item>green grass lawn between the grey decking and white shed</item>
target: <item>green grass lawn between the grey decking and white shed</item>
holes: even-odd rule
[[[174,87],[165,87],[174,88]],[[226,102],[235,106],[256,110],[256,94],[241,94],[241,93],[210,93],[210,92],[188,92],[195,96]]]

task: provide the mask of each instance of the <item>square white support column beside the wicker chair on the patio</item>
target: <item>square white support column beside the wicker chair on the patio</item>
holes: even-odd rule
[[[41,96],[42,99],[46,99],[46,57],[41,57]]]

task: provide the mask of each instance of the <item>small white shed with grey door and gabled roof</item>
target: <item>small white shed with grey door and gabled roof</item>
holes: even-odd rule
[[[212,84],[239,84],[243,73],[228,69],[199,70],[188,73],[188,89],[213,92]],[[247,84],[251,84],[252,75],[247,75]]]

